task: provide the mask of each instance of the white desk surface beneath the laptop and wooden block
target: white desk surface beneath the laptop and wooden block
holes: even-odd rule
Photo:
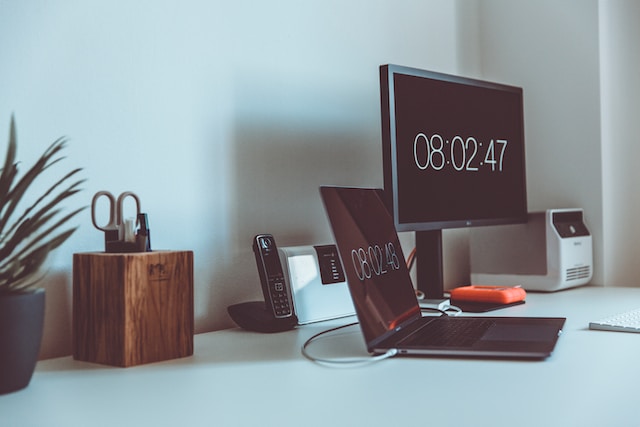
[[[567,317],[554,354],[534,362],[396,357],[327,368],[300,354],[326,323],[201,334],[193,357],[132,368],[50,359],[25,390],[0,396],[0,425],[640,425],[640,334],[588,330],[638,306],[640,288],[583,287],[494,312]],[[311,350],[365,354],[351,331]]]

